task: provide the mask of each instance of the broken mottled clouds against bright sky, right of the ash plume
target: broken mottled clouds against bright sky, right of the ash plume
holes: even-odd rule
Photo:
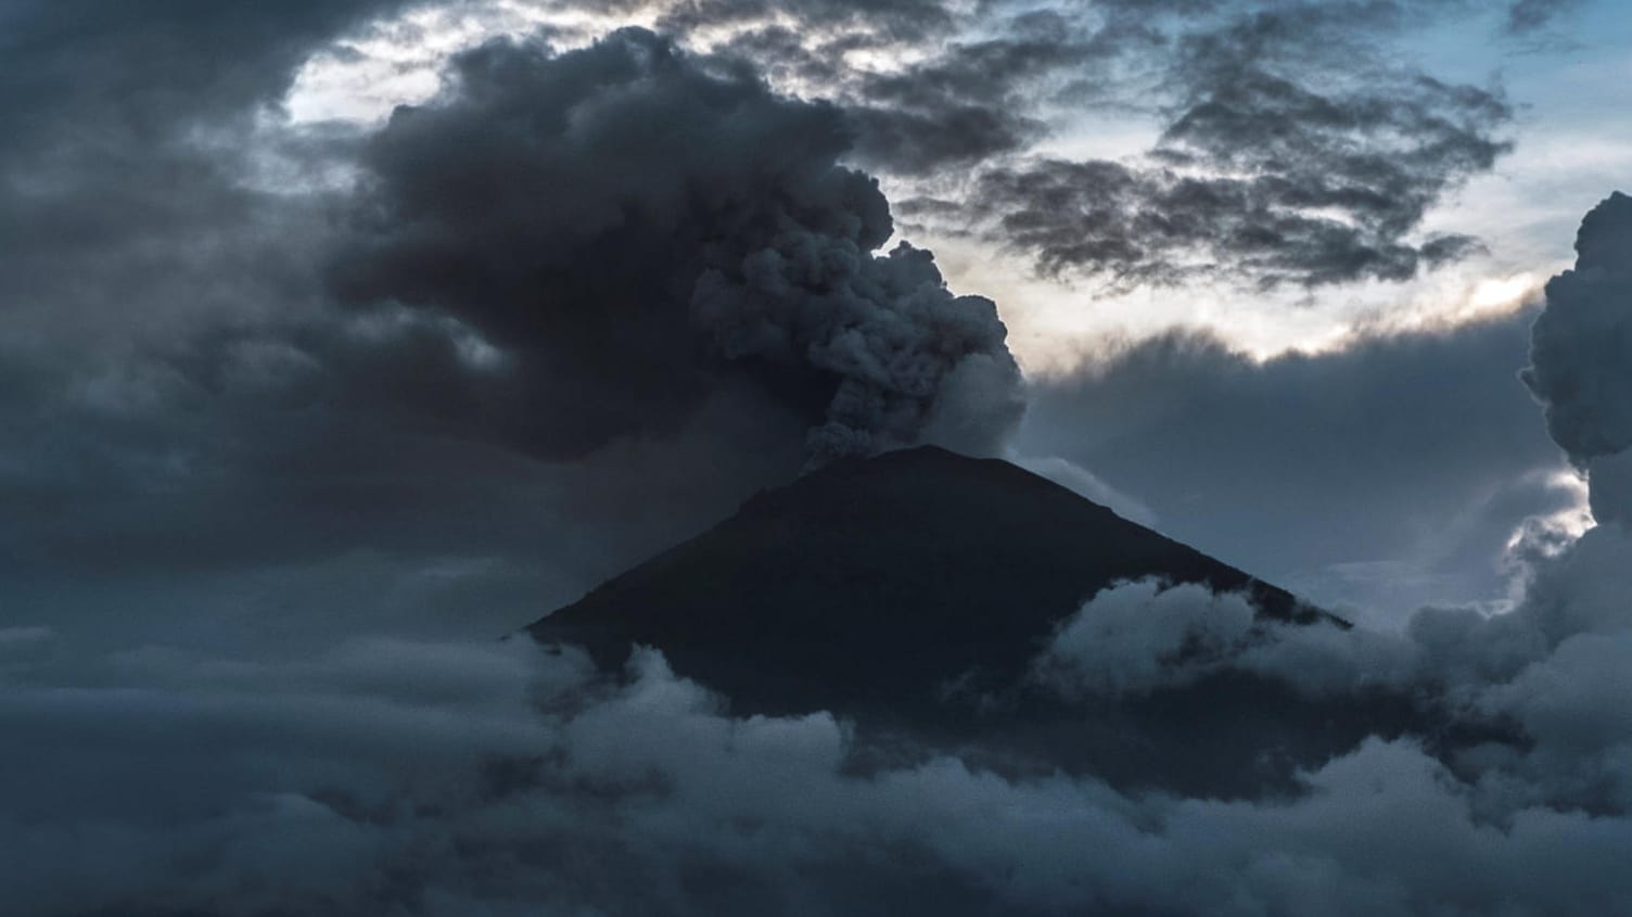
[[[818,15],[818,10],[823,10]],[[1459,3],[682,3],[682,42],[831,100],[906,228],[1113,287],[1404,281],[1480,248],[1426,212],[1510,148],[1503,93],[1392,57]],[[1159,132],[1062,155],[1113,114]]]

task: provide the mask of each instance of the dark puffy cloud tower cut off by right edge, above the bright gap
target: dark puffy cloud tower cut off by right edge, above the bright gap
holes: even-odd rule
[[[1575,237],[1575,269],[1547,282],[1524,383],[1547,432],[1591,475],[1599,522],[1632,521],[1632,197],[1606,197]]]

